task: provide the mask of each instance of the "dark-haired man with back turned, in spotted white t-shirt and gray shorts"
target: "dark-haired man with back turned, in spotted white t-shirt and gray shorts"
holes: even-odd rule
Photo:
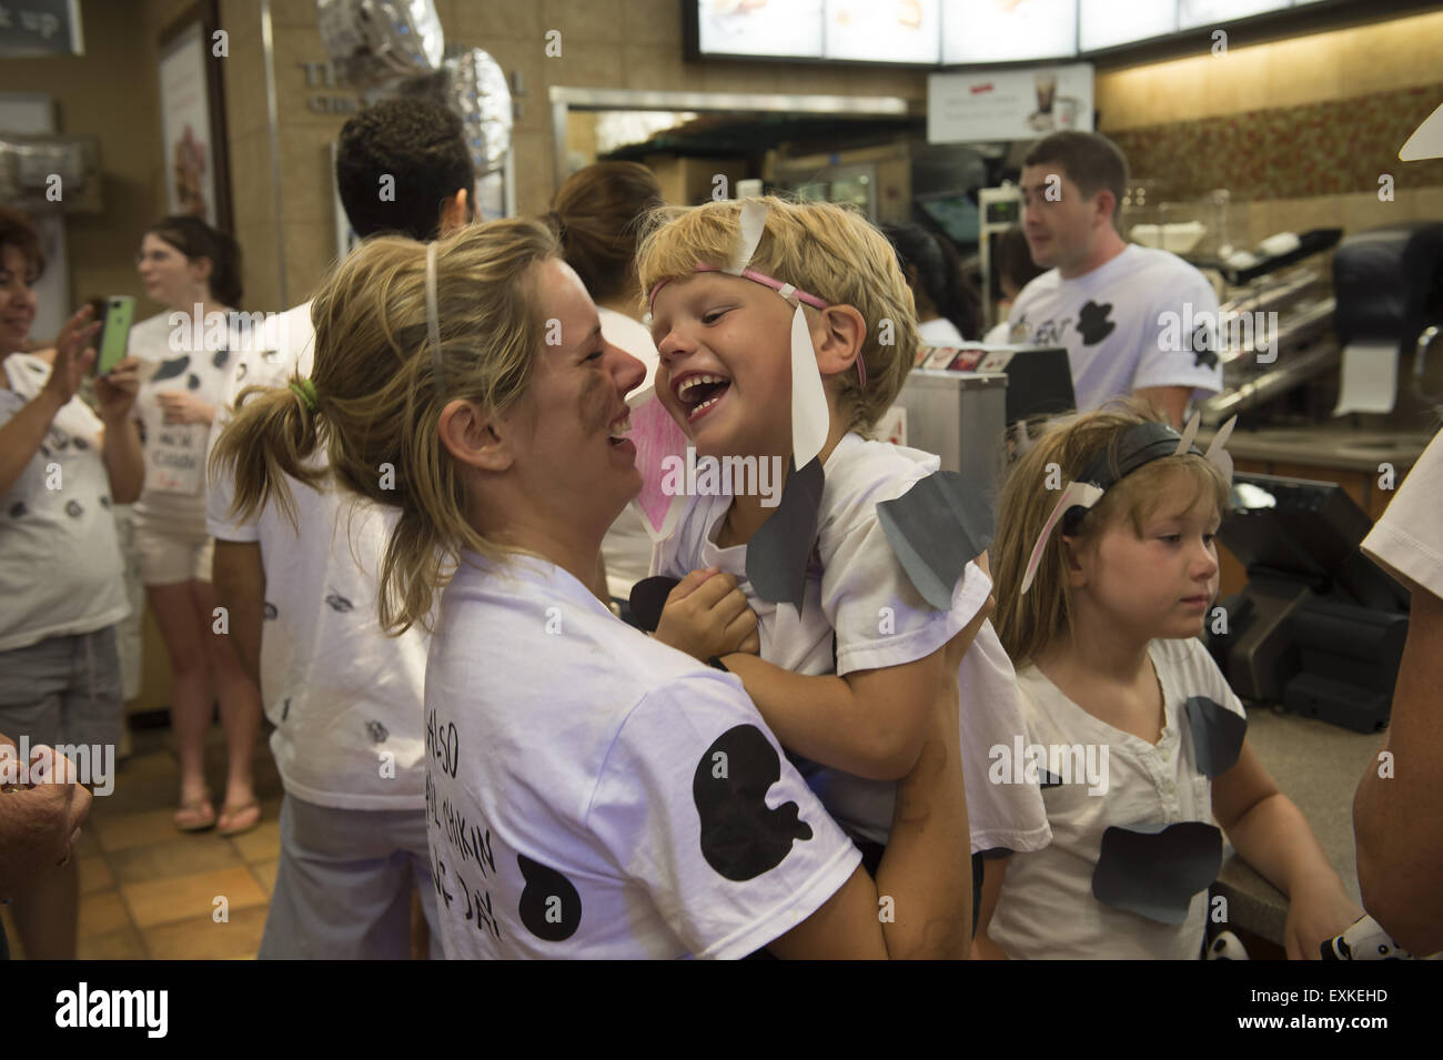
[[[377,203],[382,176],[397,196]],[[362,238],[447,235],[466,222],[473,183],[460,120],[439,102],[385,100],[341,131],[336,185]],[[307,474],[283,474],[250,518],[231,511],[234,464],[212,467],[219,473],[211,477],[215,586],[241,661],[260,684],[286,789],[260,956],[404,959],[429,945],[439,958],[423,816],[429,640],[420,626],[388,637],[377,620],[395,509],[354,500],[309,474],[325,467],[326,449],[309,381],[313,309],[307,301],[280,316],[274,350],[248,350],[228,395],[228,405],[240,398],[244,408],[276,398],[270,407],[293,417],[283,437],[297,447],[284,466]],[[377,365],[395,369],[392,358]],[[231,414],[222,411],[212,444]],[[375,479],[387,490],[395,469],[378,467]],[[407,916],[413,891],[418,904]]]

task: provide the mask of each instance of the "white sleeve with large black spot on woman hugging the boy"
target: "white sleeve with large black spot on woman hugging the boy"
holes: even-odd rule
[[[586,826],[698,958],[785,935],[861,861],[722,673],[672,681],[631,711]]]

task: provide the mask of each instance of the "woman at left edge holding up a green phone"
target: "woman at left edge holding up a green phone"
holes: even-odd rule
[[[130,604],[111,506],[134,500],[144,476],[130,420],[136,362],[95,379],[91,411],[75,397],[95,363],[100,322],[89,307],[61,330],[53,365],[17,352],[35,322],[43,268],[30,221],[0,209],[0,733],[29,747],[114,747],[115,623]],[[81,780],[101,783],[94,756],[89,769]],[[4,897],[13,898],[27,958],[75,958],[74,861],[26,873]]]

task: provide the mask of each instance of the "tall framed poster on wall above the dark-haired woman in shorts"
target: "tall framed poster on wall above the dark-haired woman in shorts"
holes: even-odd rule
[[[215,0],[186,12],[160,37],[160,141],[166,211],[231,229],[221,68],[212,58]]]

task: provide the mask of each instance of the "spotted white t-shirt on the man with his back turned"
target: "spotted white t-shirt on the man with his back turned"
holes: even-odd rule
[[[293,368],[310,371],[309,307],[283,314],[281,324],[278,350],[251,350],[240,362],[245,371],[227,408],[247,385],[284,385]],[[206,496],[212,535],[261,547],[261,699],[281,783],[317,806],[420,809],[427,637],[420,629],[388,637],[377,616],[377,573],[397,513],[290,477],[286,486],[299,534],[274,502],[250,522],[235,519],[231,476],[211,480]]]

